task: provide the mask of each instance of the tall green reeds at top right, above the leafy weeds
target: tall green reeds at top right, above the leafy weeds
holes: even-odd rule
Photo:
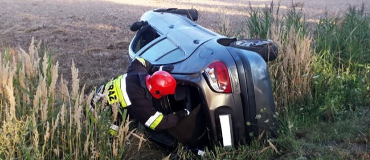
[[[370,18],[361,7],[350,6],[343,18],[323,18],[316,25],[316,52],[329,52],[336,67],[370,62]]]

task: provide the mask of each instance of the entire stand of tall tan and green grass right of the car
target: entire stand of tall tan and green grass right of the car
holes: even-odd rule
[[[304,109],[332,121],[367,105],[370,20],[364,5],[349,6],[342,18],[320,19],[313,34],[302,8],[293,5],[280,13],[279,4],[271,2],[262,9],[250,7],[246,21],[252,37],[270,38],[279,46],[278,58],[269,62],[277,109]]]

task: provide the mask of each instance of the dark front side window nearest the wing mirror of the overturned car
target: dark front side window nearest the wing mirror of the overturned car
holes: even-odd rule
[[[143,31],[140,31],[133,46],[134,52],[138,52],[141,48],[143,48],[145,45],[158,38],[159,36],[160,35],[150,27]]]

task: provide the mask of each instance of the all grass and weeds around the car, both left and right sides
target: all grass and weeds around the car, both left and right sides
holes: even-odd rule
[[[200,157],[182,146],[167,156],[129,124],[110,137],[104,107],[94,113],[102,120],[88,125],[84,110],[92,93],[80,87],[78,69],[72,66],[69,83],[52,53],[32,41],[28,52],[8,48],[0,54],[0,159],[369,159],[368,14],[351,6],[341,18],[323,17],[308,28],[299,8],[279,10],[273,3],[249,8],[245,29],[279,45],[280,55],[268,62],[277,138],[215,147]]]

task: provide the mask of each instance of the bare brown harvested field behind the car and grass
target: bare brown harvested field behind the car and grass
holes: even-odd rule
[[[42,40],[69,78],[72,59],[87,88],[124,73],[127,47],[134,35],[130,25],[147,10],[196,8],[197,23],[216,30],[229,17],[233,29],[243,27],[246,8],[263,7],[271,0],[0,0],[0,51],[6,46],[27,49],[32,37]],[[275,0],[274,3],[277,3]],[[370,0],[281,0],[281,9],[303,6],[307,20],[341,15],[349,5]]]

